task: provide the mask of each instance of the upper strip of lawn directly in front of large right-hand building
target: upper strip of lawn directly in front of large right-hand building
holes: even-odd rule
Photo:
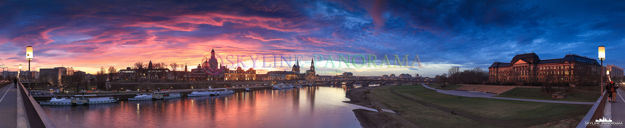
[[[565,92],[564,94],[567,94],[567,96],[563,99],[553,99],[551,98],[551,94],[542,93],[541,90],[542,90],[541,88],[516,87],[502,94],[519,95],[519,96],[498,95],[498,96],[493,96],[493,97],[537,99],[537,100],[549,100],[549,101],[595,102],[597,101],[599,96],[601,96],[601,94],[594,93],[594,92],[571,91],[571,92]],[[564,92],[564,89],[554,89],[554,90],[556,92]],[[524,96],[534,96],[534,97],[524,97]]]

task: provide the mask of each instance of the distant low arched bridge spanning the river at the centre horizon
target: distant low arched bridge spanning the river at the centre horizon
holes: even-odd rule
[[[417,85],[417,84],[422,84],[422,83],[431,82],[431,81],[357,79],[357,80],[332,80],[332,81],[315,81],[315,82],[324,82],[325,84],[333,84],[333,85],[340,85],[342,82],[346,82],[345,84],[347,86],[352,86],[354,85],[354,83],[360,83],[362,84],[362,86],[369,86],[369,84],[371,84],[372,82],[377,82],[378,84],[380,84],[380,86],[386,86],[387,84],[391,84],[391,83],[394,83],[397,85],[406,84],[406,83]]]

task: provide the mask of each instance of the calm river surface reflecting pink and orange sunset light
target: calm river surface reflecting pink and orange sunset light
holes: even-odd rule
[[[220,96],[41,106],[56,127],[361,127],[345,91],[309,86]]]

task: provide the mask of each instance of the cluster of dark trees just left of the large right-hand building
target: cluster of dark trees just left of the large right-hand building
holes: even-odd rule
[[[481,67],[460,71],[460,67],[452,66],[447,74],[436,75],[436,82],[443,84],[479,84],[488,81],[488,72]]]

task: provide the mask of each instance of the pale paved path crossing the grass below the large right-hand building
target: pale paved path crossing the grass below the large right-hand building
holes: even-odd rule
[[[484,98],[507,99],[507,100],[515,100],[515,101],[552,102],[552,103],[562,103],[562,104],[594,104],[594,102],[547,101],[547,100],[537,100],[537,99],[516,99],[516,98],[506,98],[506,97],[492,97],[492,96],[496,96],[496,94],[489,94],[489,93],[484,93],[484,92],[469,92],[469,91],[443,91],[441,89],[434,89],[433,87],[429,87],[424,84],[421,84],[421,86],[426,87],[428,89],[435,90],[436,92],[439,92],[442,94],[450,94],[454,96],[484,97]]]

